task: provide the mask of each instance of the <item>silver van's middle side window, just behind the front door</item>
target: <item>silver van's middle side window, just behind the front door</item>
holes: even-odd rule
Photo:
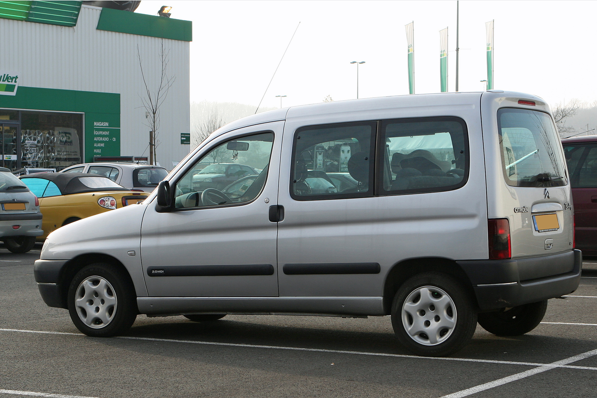
[[[294,136],[290,195],[296,200],[373,196],[377,122],[303,127]],[[328,173],[349,174],[338,190]]]

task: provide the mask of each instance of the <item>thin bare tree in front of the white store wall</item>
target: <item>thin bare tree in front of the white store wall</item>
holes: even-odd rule
[[[164,40],[162,40],[161,47],[159,49],[159,62],[161,63],[161,74],[159,78],[158,87],[155,90],[149,87],[145,73],[143,71],[143,63],[141,62],[141,53],[139,51],[139,44],[137,44],[137,58],[139,59],[139,68],[141,69],[141,77],[143,78],[143,84],[145,85],[145,94],[141,97],[141,103],[143,108],[147,112],[147,127],[149,127],[149,164],[156,164],[156,148],[159,145],[158,130],[159,130],[159,109],[168,96],[170,87],[174,84],[176,76],[168,76],[168,58],[170,56],[170,50],[164,50]]]

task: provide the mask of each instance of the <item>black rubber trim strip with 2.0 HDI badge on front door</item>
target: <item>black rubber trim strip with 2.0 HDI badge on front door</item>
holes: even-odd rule
[[[273,271],[271,264],[147,267],[147,275],[150,277],[273,275]]]

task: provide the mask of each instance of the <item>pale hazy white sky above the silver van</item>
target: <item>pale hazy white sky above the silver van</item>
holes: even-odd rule
[[[439,92],[439,30],[449,28],[449,90],[456,66],[456,1],[153,1],[193,21],[192,101],[261,106],[408,94],[404,26],[414,21],[416,93]],[[485,22],[495,20],[494,88],[554,105],[597,100],[595,1],[460,1],[460,91],[484,90]]]

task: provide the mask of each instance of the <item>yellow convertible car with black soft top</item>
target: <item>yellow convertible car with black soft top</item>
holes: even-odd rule
[[[19,178],[39,198],[44,234],[38,241],[63,225],[147,198],[145,192],[130,191],[97,174],[36,173]]]

